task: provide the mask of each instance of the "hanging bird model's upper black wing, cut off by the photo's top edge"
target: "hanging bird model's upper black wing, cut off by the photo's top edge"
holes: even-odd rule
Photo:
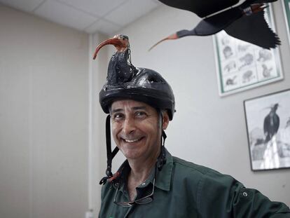
[[[237,4],[240,0],[159,0],[167,6],[191,11],[200,18]]]

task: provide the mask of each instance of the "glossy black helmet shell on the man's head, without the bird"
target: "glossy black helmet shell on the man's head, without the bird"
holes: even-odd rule
[[[175,111],[172,88],[158,72],[146,68],[137,70],[131,81],[104,85],[99,92],[99,103],[103,111],[109,114],[109,108],[114,101],[130,99],[145,102],[156,109],[167,110],[171,121]]]

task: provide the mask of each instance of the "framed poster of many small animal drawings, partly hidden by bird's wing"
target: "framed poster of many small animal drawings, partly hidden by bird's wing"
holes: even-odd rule
[[[265,19],[275,31],[270,6],[265,9]],[[221,96],[283,79],[278,48],[264,49],[224,31],[214,35],[214,48]]]

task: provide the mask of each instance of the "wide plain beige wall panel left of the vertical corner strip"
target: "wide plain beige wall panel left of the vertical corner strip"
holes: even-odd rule
[[[0,5],[0,217],[88,210],[88,35]]]

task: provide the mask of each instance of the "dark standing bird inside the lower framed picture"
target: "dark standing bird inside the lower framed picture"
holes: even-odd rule
[[[274,104],[270,107],[270,113],[264,118],[265,143],[269,142],[278,132],[280,125],[280,118],[276,113],[278,106],[279,104]]]

